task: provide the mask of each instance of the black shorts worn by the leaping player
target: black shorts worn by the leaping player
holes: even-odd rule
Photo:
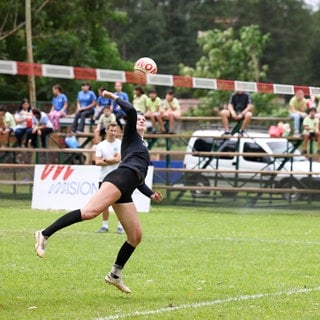
[[[116,203],[132,202],[132,193],[141,183],[138,174],[126,167],[111,171],[105,176],[103,182],[110,182],[120,190],[121,197]]]

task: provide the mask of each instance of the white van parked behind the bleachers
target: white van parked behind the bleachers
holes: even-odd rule
[[[184,158],[184,168],[221,170],[222,172],[187,173],[184,184],[188,186],[223,186],[267,188],[319,188],[320,163],[301,156],[297,146],[299,141],[289,142],[285,138],[270,138],[266,133],[250,132],[243,137],[237,135],[230,139],[222,138],[223,131],[198,130],[192,134]],[[203,156],[196,152],[222,152],[225,155]],[[230,152],[244,155],[234,156]],[[248,153],[248,156],[245,155]],[[265,156],[253,156],[252,153],[263,153]],[[273,154],[293,153],[294,157],[274,158]],[[299,174],[267,175],[259,171],[298,171]],[[226,172],[223,172],[226,171]],[[241,172],[243,171],[243,172]],[[248,171],[257,171],[255,173]],[[304,172],[315,172],[309,176]],[[293,190],[294,191],[294,190]],[[193,196],[208,195],[208,190],[192,191]],[[223,195],[234,195],[234,192],[222,191]],[[303,194],[298,192],[283,193],[283,197],[298,200]]]

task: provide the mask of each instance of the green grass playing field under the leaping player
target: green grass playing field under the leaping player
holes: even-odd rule
[[[46,256],[33,232],[61,215],[1,200],[1,319],[319,319],[320,215],[290,209],[156,205],[124,270],[132,293],[104,282],[125,240],[114,215],[55,234]]]

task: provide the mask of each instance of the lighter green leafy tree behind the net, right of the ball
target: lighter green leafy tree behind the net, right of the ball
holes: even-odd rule
[[[266,76],[267,66],[260,65],[260,58],[269,40],[258,26],[242,27],[239,37],[233,28],[225,31],[210,30],[200,34],[198,43],[202,56],[195,68],[180,66],[181,74],[192,77],[231,79],[242,81],[259,81]],[[194,111],[197,115],[212,113],[212,106],[226,103],[230,92],[198,91],[202,97],[202,105]]]

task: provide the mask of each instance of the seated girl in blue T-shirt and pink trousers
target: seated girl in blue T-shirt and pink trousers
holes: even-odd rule
[[[60,84],[56,84],[52,87],[52,107],[49,112],[49,119],[53,125],[55,131],[60,129],[60,118],[65,117],[68,108],[68,98],[62,93],[62,87]]]

